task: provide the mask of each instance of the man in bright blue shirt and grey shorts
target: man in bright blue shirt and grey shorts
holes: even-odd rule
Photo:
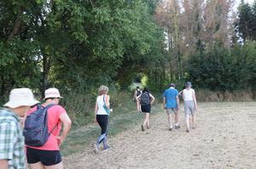
[[[163,106],[168,115],[169,130],[172,131],[172,114],[175,115],[175,128],[179,128],[177,123],[177,111],[179,106],[178,92],[175,89],[175,84],[171,83],[170,87],[165,90]]]

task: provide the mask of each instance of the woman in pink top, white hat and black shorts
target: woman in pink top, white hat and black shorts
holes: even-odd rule
[[[49,88],[45,90],[45,102],[42,107],[46,107],[49,104],[55,104],[47,110],[48,113],[48,131],[52,131],[49,135],[47,142],[41,147],[32,147],[26,145],[26,158],[27,163],[32,169],[62,169],[62,161],[60,154],[60,146],[63,140],[67,137],[67,132],[71,127],[71,120],[67,115],[66,110],[61,107],[59,101],[61,95],[56,88]],[[27,115],[37,110],[37,106],[34,107]],[[63,132],[61,132],[61,123],[63,123]]]

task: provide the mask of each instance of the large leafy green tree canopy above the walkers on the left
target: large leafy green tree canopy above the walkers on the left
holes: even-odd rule
[[[126,88],[161,59],[157,1],[1,1],[0,95],[13,87]],[[15,68],[15,69],[14,69]],[[4,72],[4,73],[3,73]],[[1,98],[2,99],[2,98]]]

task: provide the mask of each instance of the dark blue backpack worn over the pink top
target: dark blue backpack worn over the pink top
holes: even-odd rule
[[[47,142],[49,135],[58,125],[57,123],[55,127],[48,132],[47,110],[54,105],[55,104],[49,104],[42,108],[41,104],[38,104],[38,110],[26,116],[25,127],[23,129],[26,145],[41,147]]]

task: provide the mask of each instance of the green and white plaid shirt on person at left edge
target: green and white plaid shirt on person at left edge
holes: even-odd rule
[[[0,109],[0,160],[7,160],[9,169],[24,169],[24,148],[19,117],[10,110]]]

